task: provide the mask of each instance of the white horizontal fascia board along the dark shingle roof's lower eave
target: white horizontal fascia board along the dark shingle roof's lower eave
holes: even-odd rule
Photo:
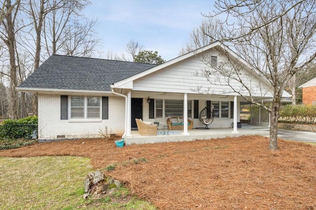
[[[17,91],[21,92],[38,92],[38,93],[49,93],[49,94],[61,94],[61,93],[81,93],[81,94],[113,94],[111,91],[96,91],[96,90],[67,90],[67,89],[48,89],[48,88],[25,88],[25,87],[17,87]]]

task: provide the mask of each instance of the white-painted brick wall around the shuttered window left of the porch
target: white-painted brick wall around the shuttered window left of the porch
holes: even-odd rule
[[[100,129],[116,134],[124,133],[125,99],[109,97],[109,119],[72,121],[60,119],[60,95],[39,94],[39,139],[54,140],[57,136],[66,139],[101,137]]]

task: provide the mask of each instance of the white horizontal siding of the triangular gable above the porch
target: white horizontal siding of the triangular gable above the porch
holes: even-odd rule
[[[209,49],[207,52],[203,52],[203,55],[215,56],[218,62],[227,63],[226,55],[218,50]],[[213,63],[211,65],[214,65]],[[133,91],[236,95],[227,85],[225,78],[218,79],[218,76],[210,74],[208,81],[205,76],[196,75],[207,69],[208,67],[201,61],[201,57],[192,56],[134,80]],[[254,72],[242,69],[241,77],[242,82],[251,87],[253,96],[272,97],[269,86],[260,81],[260,77],[256,78]],[[214,84],[210,84],[210,81]],[[243,95],[249,95],[239,82],[232,80],[230,84]]]

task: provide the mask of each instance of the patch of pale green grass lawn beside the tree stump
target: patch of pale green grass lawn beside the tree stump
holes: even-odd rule
[[[0,157],[0,209],[10,210],[155,210],[147,202],[129,195],[125,188],[116,196],[128,197],[125,203],[106,197],[82,198],[85,176],[95,171],[83,157],[49,156],[30,158]]]

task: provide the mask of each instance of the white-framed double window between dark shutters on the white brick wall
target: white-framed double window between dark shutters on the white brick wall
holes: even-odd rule
[[[71,96],[70,119],[100,119],[101,97]]]

